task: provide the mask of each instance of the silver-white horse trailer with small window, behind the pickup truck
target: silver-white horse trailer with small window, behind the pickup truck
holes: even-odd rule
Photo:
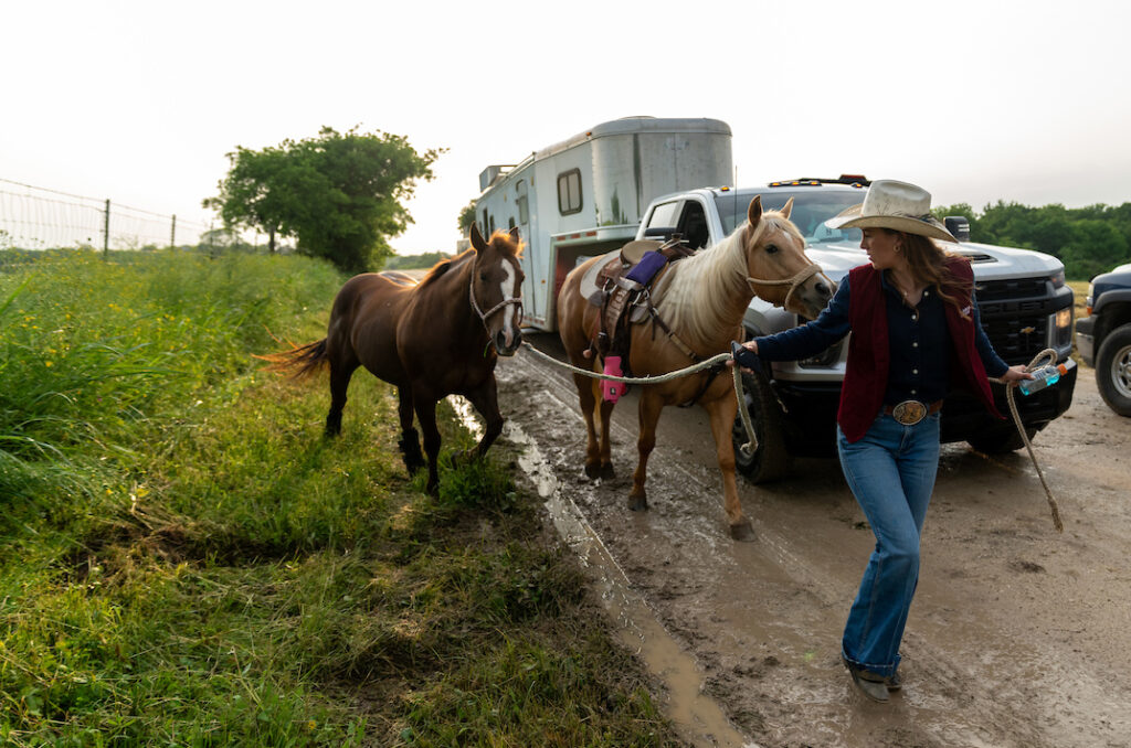
[[[725,122],[631,116],[603,122],[517,165],[486,167],[475,217],[484,236],[518,227],[526,242],[525,324],[554,330],[558,289],[580,259],[632,241],[654,198],[731,185],[732,179]],[[682,228],[697,246],[694,229]]]

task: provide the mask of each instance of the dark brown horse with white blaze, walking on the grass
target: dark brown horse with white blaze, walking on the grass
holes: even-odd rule
[[[438,486],[440,432],[435,403],[461,394],[486,420],[477,453],[502,432],[494,367],[523,342],[523,243],[518,229],[495,232],[490,242],[472,225],[472,249],[438,263],[420,284],[400,272],[366,272],[345,282],[334,299],[326,337],[267,357],[295,376],[330,365],[326,434],[342,430],[346,389],[359,366],[397,388],[400,452],[405,467],[424,467],[413,412],[424,432],[428,490]]]

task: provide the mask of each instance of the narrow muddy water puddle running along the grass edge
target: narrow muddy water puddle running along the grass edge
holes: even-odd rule
[[[464,398],[451,397],[464,426],[481,435],[483,427],[474,408]],[[630,589],[624,571],[613,558],[580,510],[563,496],[558,478],[538,445],[513,420],[508,420],[503,436],[519,447],[518,466],[529,478],[562,540],[577,554],[589,572],[621,643],[629,646],[657,675],[666,688],[667,716],[683,737],[696,746],[758,748],[743,737],[719,705],[702,693],[703,675],[694,659],[664,629],[663,624],[639,594]]]

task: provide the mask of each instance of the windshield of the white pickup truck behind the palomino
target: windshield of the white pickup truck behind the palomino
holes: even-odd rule
[[[793,210],[789,212],[789,220],[796,224],[810,244],[820,242],[851,242],[858,244],[861,240],[858,228],[837,229],[829,228],[824,221],[839,214],[845,208],[858,205],[864,201],[863,190],[852,192],[840,190],[821,190],[820,188],[804,190],[770,190],[760,191],[734,191],[715,195],[715,205],[718,207],[719,218],[723,220],[723,231],[729,235],[743,220],[746,219],[746,209],[756,194],[762,195],[762,208],[766,210],[780,210],[785,201],[793,198]]]

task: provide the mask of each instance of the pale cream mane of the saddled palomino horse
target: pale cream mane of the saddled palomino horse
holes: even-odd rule
[[[672,266],[654,294],[656,305],[673,330],[685,332],[692,340],[710,340],[729,325],[728,311],[734,299],[750,301],[746,284],[746,260],[742,234],[750,226],[743,221],[715,246],[700,250]],[[783,231],[804,246],[805,240],[789,219],[778,210],[762,214],[756,229],[759,234]]]

